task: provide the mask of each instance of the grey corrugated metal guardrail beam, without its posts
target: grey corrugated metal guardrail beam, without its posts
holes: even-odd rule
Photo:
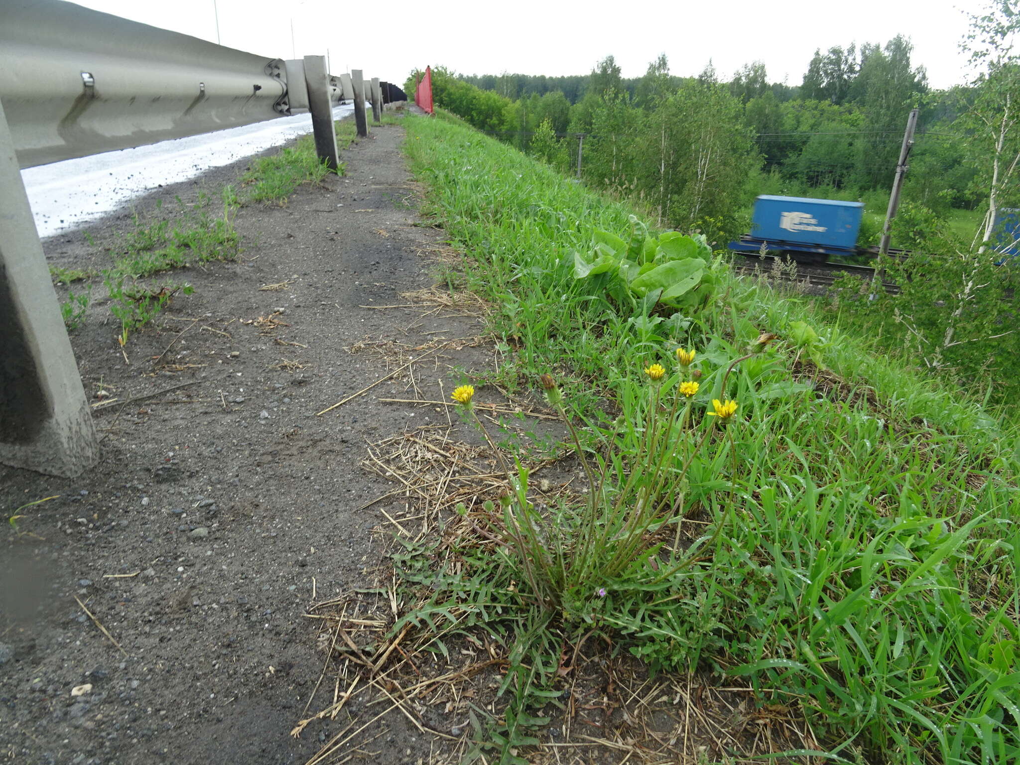
[[[62,0],[0,0],[0,71],[21,167],[308,108],[301,60],[257,56]],[[330,78],[332,102],[344,96],[341,79]]]

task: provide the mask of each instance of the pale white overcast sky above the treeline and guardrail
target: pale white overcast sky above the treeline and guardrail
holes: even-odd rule
[[[659,53],[673,74],[708,63],[729,80],[760,59],[770,81],[800,85],[815,48],[884,44],[904,34],[914,63],[945,88],[963,81],[959,43],[963,9],[979,0],[648,0],[562,3],[555,0],[434,0],[385,3],[339,0],[83,0],[137,21],[264,55],[330,55],[330,70],[403,83],[408,72],[441,64],[464,73],[582,74],[612,54],[623,76],[640,76]],[[294,44],[291,41],[291,22]]]

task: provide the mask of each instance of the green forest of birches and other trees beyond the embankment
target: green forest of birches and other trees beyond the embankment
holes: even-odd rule
[[[1001,242],[989,240],[997,213],[1020,207],[1016,4],[999,0],[961,17],[974,73],[942,90],[929,87],[900,35],[818,50],[799,85],[770,82],[761,61],[728,80],[711,63],[697,76],[677,76],[665,55],[643,76],[624,79],[609,55],[576,76],[464,75],[434,66],[434,96],[475,129],[626,200],[661,228],[703,233],[717,249],[750,230],[762,194],[863,202],[859,243],[877,244],[917,108],[892,245],[918,257],[897,266],[905,269],[900,295],[862,303],[859,287],[843,285],[830,296],[832,310],[919,366],[971,387],[980,369],[982,397],[1015,409],[1020,333],[1012,290],[1020,263],[1007,257],[1000,267]]]

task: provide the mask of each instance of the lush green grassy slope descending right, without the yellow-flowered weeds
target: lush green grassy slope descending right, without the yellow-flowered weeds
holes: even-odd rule
[[[498,307],[494,328],[519,347],[504,384],[555,371],[582,415],[597,418],[608,400],[640,421],[641,369],[690,345],[706,372],[701,413],[722,393],[720,367],[760,330],[788,339],[803,320],[821,336],[831,373],[787,340],[730,377],[725,394],[741,408],[727,434],[741,458],[730,467],[706,454],[688,474],[691,502],[723,532],[708,561],[670,581],[655,627],[627,582],[607,582],[606,623],[634,653],[797,695],[843,757],[1018,756],[1012,435],[960,392],[721,261],[720,298],[684,333],[643,328],[572,277],[572,251],[588,250],[593,228],[629,236],[623,206],[452,120],[409,120],[407,152],[429,211],[466,253],[469,285]],[[789,385],[805,374],[816,390]],[[635,428],[623,430],[619,449],[632,452]]]

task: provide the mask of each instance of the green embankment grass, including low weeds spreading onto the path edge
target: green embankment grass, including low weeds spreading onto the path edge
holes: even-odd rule
[[[422,551],[398,559],[406,589],[427,582],[426,605],[398,626],[486,629],[508,647],[509,701],[479,749],[522,761],[516,748],[562,692],[561,646],[594,630],[653,667],[749,678],[829,760],[1020,758],[1016,434],[721,258],[720,297],[694,315],[615,304],[598,279],[573,278],[573,252],[590,253],[596,230],[628,239],[639,221],[624,206],[451,120],[406,124],[427,212],[464,253],[462,278],[497,306],[494,332],[519,349],[503,382],[556,375],[609,499],[646,479],[648,444],[675,444],[671,479],[646,495],[658,508],[647,545],[604,578],[589,569],[558,610],[528,593],[526,554],[465,539],[439,568]],[[778,339],[760,348],[761,333]],[[677,346],[698,349],[703,374],[690,422],[665,414],[678,371],[661,388],[642,372],[675,369]],[[707,416],[713,398],[738,402],[725,428]],[[576,508],[539,520],[526,475],[509,483],[524,487],[523,520],[493,508],[492,533],[512,542],[551,523],[567,552],[582,539]]]

